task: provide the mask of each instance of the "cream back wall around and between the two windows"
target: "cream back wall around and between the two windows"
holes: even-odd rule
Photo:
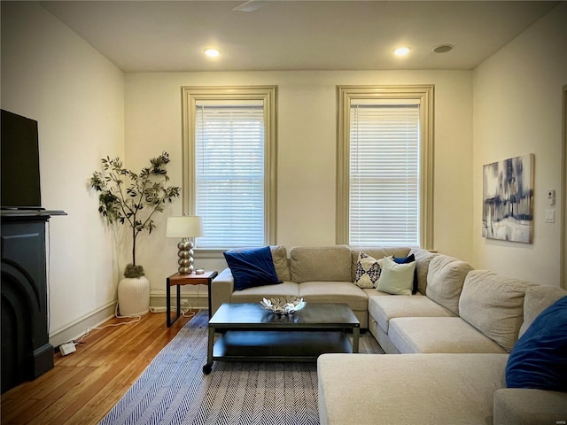
[[[182,86],[278,86],[277,243],[335,243],[336,86],[435,84],[435,249],[471,260],[472,73],[469,71],[127,73],[128,166],[168,151],[171,182],[182,184]],[[158,228],[136,251],[151,282],[165,291],[176,270],[176,243],[165,237],[165,219],[182,213],[182,202],[156,220]],[[223,260],[199,267],[221,270]],[[195,291],[184,287],[184,292]]]

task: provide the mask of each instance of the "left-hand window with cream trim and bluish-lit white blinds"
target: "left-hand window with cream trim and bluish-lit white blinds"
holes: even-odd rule
[[[276,87],[183,88],[183,213],[196,248],[275,242]]]

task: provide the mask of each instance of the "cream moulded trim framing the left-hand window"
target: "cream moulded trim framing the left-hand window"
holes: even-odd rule
[[[182,87],[183,214],[194,215],[196,202],[195,113],[198,101],[261,100],[264,105],[264,243],[276,243],[277,86]],[[227,249],[230,247],[227,247]],[[221,252],[224,249],[204,249]]]

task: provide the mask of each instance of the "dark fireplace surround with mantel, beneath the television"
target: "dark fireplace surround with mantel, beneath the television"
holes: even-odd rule
[[[45,228],[63,212],[2,212],[2,393],[53,367]]]

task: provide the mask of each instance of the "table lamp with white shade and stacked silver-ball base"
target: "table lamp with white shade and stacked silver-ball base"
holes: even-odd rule
[[[191,274],[193,267],[193,242],[190,237],[203,236],[203,220],[196,215],[185,215],[183,217],[169,217],[167,219],[166,237],[181,237],[177,243],[177,271],[180,274]]]

